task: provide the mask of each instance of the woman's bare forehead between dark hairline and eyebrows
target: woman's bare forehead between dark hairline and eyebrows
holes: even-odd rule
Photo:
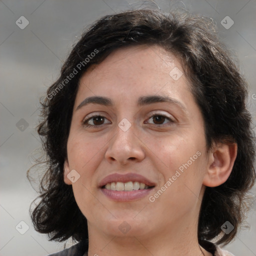
[[[180,77],[176,79],[177,76]],[[113,98],[134,98],[166,93],[178,96],[187,93],[188,86],[181,63],[173,54],[157,45],[140,45],[117,49],[99,64],[90,66],[80,79],[77,97],[108,94]]]

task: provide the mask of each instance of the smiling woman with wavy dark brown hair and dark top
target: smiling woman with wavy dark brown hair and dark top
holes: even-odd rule
[[[42,103],[31,217],[78,241],[52,255],[232,255],[218,244],[255,181],[246,93],[209,19],[135,10],[93,24]]]

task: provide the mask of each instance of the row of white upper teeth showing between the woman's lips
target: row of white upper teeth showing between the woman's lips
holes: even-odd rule
[[[107,183],[105,184],[105,188],[108,190],[116,190],[116,191],[132,191],[132,190],[138,190],[138,189],[147,189],[149,188],[148,185],[144,184],[144,183],[139,183],[137,181],[132,182],[132,181],[128,181],[128,182],[111,182],[111,183]]]

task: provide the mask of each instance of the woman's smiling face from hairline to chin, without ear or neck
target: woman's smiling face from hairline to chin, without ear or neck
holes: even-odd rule
[[[81,77],[64,180],[89,232],[142,237],[197,225],[209,156],[181,72],[161,47],[133,46]]]

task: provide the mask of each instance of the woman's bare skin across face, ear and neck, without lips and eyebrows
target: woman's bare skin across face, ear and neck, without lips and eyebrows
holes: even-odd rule
[[[205,186],[225,182],[237,149],[236,144],[222,143],[206,149],[200,109],[184,72],[177,80],[169,75],[174,67],[182,71],[174,55],[160,46],[132,46],[115,50],[80,79],[64,181],[72,185],[87,219],[89,256],[211,255],[197,241],[200,203]],[[113,105],[90,103],[76,109],[95,95],[110,98]],[[168,96],[179,103],[138,106],[138,98],[148,95]],[[85,126],[82,121],[91,113],[105,117],[102,124]],[[155,114],[167,115],[171,121],[163,118],[162,124],[156,124]],[[127,131],[118,127],[123,118],[131,124]],[[91,119],[89,123],[95,124]],[[149,201],[198,151],[200,156],[155,201]],[[80,174],[74,183],[67,178],[72,169]],[[105,176],[129,172],[155,182],[148,196],[116,202],[99,189]],[[131,227],[125,234],[118,228],[123,221]]]

